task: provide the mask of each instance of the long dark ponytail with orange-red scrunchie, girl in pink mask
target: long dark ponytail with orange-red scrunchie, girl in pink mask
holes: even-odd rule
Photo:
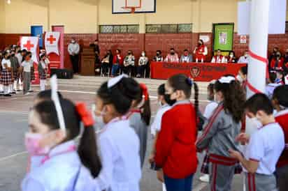
[[[101,171],[101,161],[97,154],[96,138],[94,132],[94,119],[91,112],[89,112],[84,103],[76,105],[76,110],[84,125],[84,131],[78,146],[78,154],[80,160],[85,167],[87,167],[92,176],[96,178]]]

